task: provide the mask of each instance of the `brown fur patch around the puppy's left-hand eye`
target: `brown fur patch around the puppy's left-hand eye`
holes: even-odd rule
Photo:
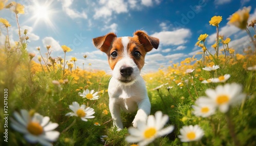
[[[113,70],[116,63],[122,58],[122,54],[123,54],[123,44],[122,44],[122,39],[121,38],[117,38],[113,41],[112,43],[112,48],[111,50],[107,53],[108,55],[108,59],[109,59],[109,64],[110,64],[110,68]],[[113,52],[117,53],[117,57],[112,57],[111,54]]]

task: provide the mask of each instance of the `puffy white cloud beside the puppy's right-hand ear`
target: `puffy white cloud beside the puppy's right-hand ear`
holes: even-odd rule
[[[159,38],[163,45],[179,45],[187,42],[187,38],[191,36],[189,29],[178,29],[174,31],[162,31],[152,35]]]

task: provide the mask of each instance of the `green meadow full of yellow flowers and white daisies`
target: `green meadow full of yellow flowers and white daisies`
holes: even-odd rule
[[[15,13],[19,28],[24,7],[10,3],[5,9]],[[47,50],[46,55],[29,53],[29,30],[19,31],[12,45],[11,26],[0,18],[7,30],[0,46],[1,145],[256,145],[256,31],[248,31],[255,30],[256,20],[247,22],[248,18],[244,8],[229,20],[250,36],[250,45],[240,48],[243,53],[229,48],[230,38],[218,32],[222,17],[213,16],[209,24],[217,29],[216,43],[207,48],[208,35],[200,35],[195,45],[202,48],[201,58],[170,62],[167,68],[143,75],[151,114],[161,111],[168,116],[163,127],[174,128],[163,136],[159,129],[134,134],[130,127],[135,113],[122,113],[125,129],[117,131],[108,107],[110,75],[77,67],[75,56],[66,59],[72,51],[66,45],[61,46],[64,58],[51,56],[50,45],[35,48]]]

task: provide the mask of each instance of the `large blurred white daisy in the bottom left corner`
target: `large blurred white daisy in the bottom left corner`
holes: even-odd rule
[[[35,113],[29,115],[27,110],[20,110],[13,113],[15,119],[11,118],[11,127],[24,134],[24,138],[30,143],[39,142],[42,145],[52,145],[59,137],[58,131],[53,131],[58,127],[57,123],[52,123],[48,116]]]

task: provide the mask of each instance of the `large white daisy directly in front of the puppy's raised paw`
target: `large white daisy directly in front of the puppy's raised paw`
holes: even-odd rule
[[[167,115],[163,115],[161,111],[157,111],[155,116],[149,115],[147,123],[138,121],[137,128],[130,127],[128,129],[131,135],[127,136],[125,140],[132,143],[138,142],[138,145],[147,145],[156,138],[169,134],[174,130],[174,126],[168,126],[163,129],[168,118],[169,117]]]

